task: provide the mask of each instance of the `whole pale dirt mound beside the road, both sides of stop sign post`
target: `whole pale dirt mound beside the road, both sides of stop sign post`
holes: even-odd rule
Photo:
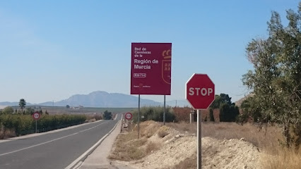
[[[141,123],[141,136],[141,140],[144,141],[138,149],[148,152],[146,156],[122,163],[131,168],[196,168],[195,134],[183,134],[175,130],[175,127],[151,121]],[[158,145],[160,146],[151,148]],[[256,146],[245,142],[244,139],[202,138],[202,168],[260,169],[260,154]]]

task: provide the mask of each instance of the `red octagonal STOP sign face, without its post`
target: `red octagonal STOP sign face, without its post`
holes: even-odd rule
[[[192,75],[186,82],[186,99],[194,109],[207,109],[214,101],[214,83],[206,74]]]

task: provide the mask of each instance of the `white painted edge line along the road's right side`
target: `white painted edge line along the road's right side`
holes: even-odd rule
[[[75,161],[73,161],[70,165],[68,165],[65,169],[73,169],[73,168],[78,168],[81,166],[81,164],[79,166],[77,166],[78,163],[80,163],[81,161],[85,161],[85,158],[87,158],[90,154],[92,154],[92,152],[102,143],[102,141],[107,138],[107,136],[109,134],[111,134],[111,132],[113,132],[113,130],[117,127],[117,125],[120,123],[120,120],[116,123],[116,125],[112,128],[112,130],[110,130],[110,132],[108,132],[107,134],[105,134],[104,137],[102,137],[98,142],[96,142],[93,146],[90,147],[90,149],[88,149],[87,151],[85,151],[85,153],[83,153],[81,156],[79,156],[78,158],[76,158]]]

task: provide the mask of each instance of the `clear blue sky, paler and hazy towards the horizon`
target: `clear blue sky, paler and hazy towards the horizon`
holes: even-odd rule
[[[252,69],[245,47],[294,0],[0,1],[0,101],[37,104],[94,91],[130,93],[131,42],[172,43],[172,94],[193,73],[236,101]],[[163,96],[141,98],[163,101]]]

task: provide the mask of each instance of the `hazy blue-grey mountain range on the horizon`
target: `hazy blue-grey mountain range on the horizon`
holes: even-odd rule
[[[0,102],[0,106],[18,106],[18,102]],[[141,106],[163,106],[163,103],[150,99],[140,99]],[[108,93],[103,91],[92,92],[90,94],[76,94],[69,99],[61,101],[47,101],[41,104],[30,104],[27,106],[84,106],[84,107],[138,107],[138,97],[129,94]],[[167,106],[188,106],[186,100],[166,101]]]

